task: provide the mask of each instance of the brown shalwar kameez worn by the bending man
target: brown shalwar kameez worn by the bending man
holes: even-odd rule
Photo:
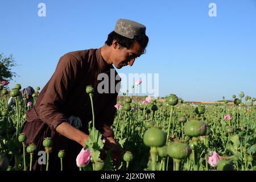
[[[35,143],[37,152],[34,155],[33,169],[45,170],[46,165],[38,164],[38,151],[44,151],[43,139],[53,139],[52,153],[49,159],[49,170],[60,170],[59,150],[65,150],[66,157],[63,159],[64,170],[78,170],[76,156],[82,146],[56,131],[56,127],[62,122],[67,122],[73,115],[82,121],[81,131],[88,134],[88,122],[92,121],[92,108],[89,95],[86,94],[87,85],[94,88],[93,104],[95,114],[95,126],[103,137],[114,137],[110,126],[115,116],[114,105],[117,102],[117,90],[112,88],[112,93],[98,93],[97,76],[106,73],[109,76],[110,92],[110,69],[114,69],[101,56],[101,49],[88,49],[84,51],[69,52],[62,56],[57,68],[50,80],[40,92],[36,105],[27,111],[27,122],[22,133],[27,135],[27,144]],[[114,76],[118,77],[115,70]],[[114,79],[111,77],[111,79]],[[115,79],[114,79],[115,80]],[[120,80],[114,81],[114,86]],[[119,85],[119,84],[118,84]],[[113,87],[113,85],[112,85]]]

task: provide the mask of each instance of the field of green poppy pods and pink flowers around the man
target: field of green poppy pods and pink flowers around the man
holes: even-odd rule
[[[27,137],[20,130],[31,104],[19,97],[19,84],[11,90],[4,86],[0,89],[0,171],[30,171],[32,156],[38,151],[35,144],[26,144]],[[34,103],[39,92],[40,88],[36,88]],[[92,86],[87,86],[85,93],[90,97],[94,115]],[[15,105],[7,104],[10,97],[14,97]],[[112,125],[115,140],[123,150],[121,166],[113,166],[111,151],[104,160],[100,159],[104,142],[94,127],[94,119],[89,123],[86,149],[74,161],[81,171],[255,171],[254,102],[255,98],[243,92],[234,94],[232,101],[222,97],[222,102],[212,105],[190,104],[178,94],[161,100],[126,95],[115,105],[117,112]],[[43,141],[46,170],[62,171],[62,159],[68,155],[65,151],[52,156],[59,158],[61,165],[48,168],[54,144],[51,138]],[[80,162],[80,158],[86,160]]]

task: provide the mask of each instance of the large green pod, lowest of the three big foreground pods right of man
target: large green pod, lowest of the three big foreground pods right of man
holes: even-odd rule
[[[186,159],[191,154],[191,149],[187,143],[170,142],[167,146],[167,154],[174,159]]]

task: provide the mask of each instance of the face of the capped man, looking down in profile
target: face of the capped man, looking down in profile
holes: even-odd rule
[[[134,64],[135,59],[142,54],[141,45],[137,41],[133,43],[133,46],[131,46],[130,49],[127,49],[125,47],[119,48],[119,45],[115,43],[115,40],[112,46],[112,61],[115,68],[117,69],[120,69],[127,65],[130,65],[131,67]]]

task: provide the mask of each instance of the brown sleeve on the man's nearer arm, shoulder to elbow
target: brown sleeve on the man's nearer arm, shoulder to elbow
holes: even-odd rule
[[[57,64],[53,76],[49,80],[48,88],[43,100],[40,102],[39,117],[47,123],[51,130],[68,118],[63,113],[63,106],[67,101],[68,93],[72,91],[75,84],[78,61],[72,53],[62,56]]]

